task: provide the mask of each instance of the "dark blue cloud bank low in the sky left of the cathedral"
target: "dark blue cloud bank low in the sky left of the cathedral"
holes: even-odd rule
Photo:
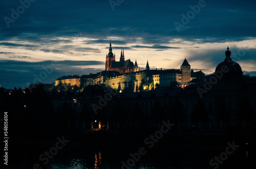
[[[4,88],[27,87],[27,83],[39,82],[52,83],[59,76],[70,74],[89,74],[102,70],[97,68],[81,68],[77,66],[97,66],[104,65],[99,61],[43,61],[43,62],[25,62],[25,61],[0,61],[0,84]],[[65,69],[62,69],[65,67]],[[46,74],[46,77],[42,77]],[[12,77],[12,78],[10,78]],[[38,77],[40,78],[38,80]]]

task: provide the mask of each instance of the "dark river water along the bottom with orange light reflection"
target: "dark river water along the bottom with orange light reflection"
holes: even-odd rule
[[[204,138],[204,137],[203,137]],[[86,143],[70,141],[62,149],[58,150],[48,162],[39,160],[39,156],[49,151],[55,146],[55,141],[41,147],[30,145],[28,147],[19,146],[15,151],[10,152],[9,163],[7,167],[1,165],[1,168],[26,169],[36,168],[36,164],[41,168],[60,169],[60,168],[254,168],[255,151],[248,145],[253,143],[244,140],[236,140],[235,144],[240,145],[227,157],[223,155],[228,147],[224,138],[219,142],[208,143],[208,139],[202,143],[193,143],[177,139],[171,142],[171,139],[163,138],[155,143],[152,148],[145,145],[143,139],[135,142],[126,143],[104,143],[104,138],[98,143]],[[211,139],[211,138],[210,138]],[[140,140],[140,139],[139,139]],[[216,139],[218,140],[218,139]],[[119,141],[119,140],[118,140]],[[114,142],[114,141],[112,141]],[[230,143],[232,143],[230,141]],[[99,144],[99,145],[98,145]],[[29,144],[28,144],[29,145]],[[10,147],[14,146],[10,144]],[[139,149],[143,148],[143,155],[138,157]],[[229,149],[228,151],[231,151]],[[215,157],[223,155],[221,162],[215,160],[215,165],[209,162]],[[132,157],[134,156],[134,157]],[[46,162],[46,163],[44,163]],[[123,166],[123,167],[122,167]],[[39,167],[38,167],[39,168]]]

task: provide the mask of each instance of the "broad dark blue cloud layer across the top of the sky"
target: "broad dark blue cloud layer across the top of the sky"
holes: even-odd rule
[[[10,3],[11,2],[11,3]],[[123,2],[112,10],[109,1],[82,1],[76,3],[66,0],[36,1],[31,3],[19,18],[10,23],[0,21],[1,39],[27,37],[30,41],[37,34],[56,37],[90,37],[98,40],[84,43],[105,43],[110,37],[123,37],[117,44],[124,45],[129,39],[141,38],[144,43],[160,43],[173,37],[183,39],[204,39],[204,42],[220,40],[239,41],[245,37],[255,37],[254,1],[207,1],[206,6],[177,32],[175,21],[181,22],[181,14],[187,14],[189,6],[197,2]],[[11,17],[11,9],[20,6],[19,1],[1,1],[0,17]],[[154,12],[152,12],[154,11]],[[128,15],[129,14],[129,15]],[[230,17],[232,16],[232,17]],[[235,18],[235,19],[231,19]],[[26,34],[27,33],[27,34]],[[26,36],[25,36],[26,35]],[[155,37],[152,39],[152,37]],[[156,38],[157,37],[157,38]],[[1,40],[0,39],[0,40]],[[51,40],[49,40],[51,41]],[[55,40],[52,43],[70,42]]]

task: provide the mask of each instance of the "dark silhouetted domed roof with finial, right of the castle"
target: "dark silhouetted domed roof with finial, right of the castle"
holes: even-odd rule
[[[238,74],[242,74],[242,68],[240,67],[240,65],[234,61],[232,61],[232,59],[230,58],[231,52],[228,50],[229,48],[227,47],[227,51],[226,53],[226,59],[221,62],[215,69],[215,72],[217,71],[223,71],[224,70],[228,70],[227,73],[238,73]]]

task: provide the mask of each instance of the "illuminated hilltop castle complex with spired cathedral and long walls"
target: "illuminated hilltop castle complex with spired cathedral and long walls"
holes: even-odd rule
[[[118,62],[116,61],[116,55],[112,52],[110,41],[104,71],[82,76],[62,76],[55,80],[55,85],[57,86],[61,81],[62,83],[70,83],[71,86],[76,85],[82,88],[89,85],[103,85],[119,91],[139,92],[156,88],[170,89],[173,86],[185,87],[193,83],[194,79],[202,81],[203,78],[204,73],[202,71],[194,72],[193,69],[190,69],[186,59],[184,59],[180,69],[151,70],[147,61],[145,69],[139,70],[137,61],[134,64],[130,59],[124,60],[124,50],[121,49]]]

